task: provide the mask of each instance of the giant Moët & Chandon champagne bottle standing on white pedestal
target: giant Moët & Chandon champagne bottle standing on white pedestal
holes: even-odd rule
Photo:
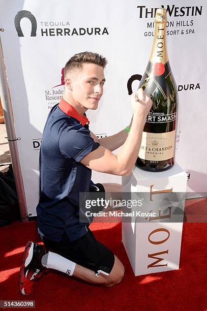
[[[136,165],[153,172],[167,170],[174,164],[178,92],[167,55],[166,22],[166,10],[158,9],[150,60],[139,84],[153,105],[146,117]]]

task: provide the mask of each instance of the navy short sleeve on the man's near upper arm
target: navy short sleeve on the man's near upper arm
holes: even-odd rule
[[[90,130],[81,127],[79,129],[66,128],[60,135],[59,148],[66,158],[72,158],[80,162],[85,155],[100,146],[90,136]]]

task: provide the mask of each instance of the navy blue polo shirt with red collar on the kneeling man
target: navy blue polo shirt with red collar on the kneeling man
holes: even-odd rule
[[[55,105],[47,118],[40,149],[40,200],[38,232],[60,242],[64,231],[71,241],[87,232],[90,224],[79,222],[79,192],[89,192],[91,169],[80,161],[97,149],[89,121],[66,101]]]

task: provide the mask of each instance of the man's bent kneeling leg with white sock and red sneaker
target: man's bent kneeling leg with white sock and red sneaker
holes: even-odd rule
[[[65,246],[66,244],[64,252]],[[109,287],[121,282],[124,266],[106,246],[95,239],[89,228],[87,238],[84,236],[83,241],[76,246],[79,254],[83,252],[81,258],[85,257],[81,262],[83,260],[86,267],[92,266],[94,270],[67,259],[67,251],[66,257],[61,256],[58,254],[58,252],[62,254],[61,248],[56,250],[57,253],[54,253],[54,250],[48,252],[44,246],[28,242],[20,268],[20,293],[23,296],[31,295],[35,282],[46,269],[55,269],[96,285]]]

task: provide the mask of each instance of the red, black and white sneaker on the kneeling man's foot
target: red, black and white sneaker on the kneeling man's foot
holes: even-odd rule
[[[23,296],[31,295],[35,281],[47,270],[41,262],[48,252],[43,245],[29,241],[24,250],[23,263],[19,273],[19,290]]]

